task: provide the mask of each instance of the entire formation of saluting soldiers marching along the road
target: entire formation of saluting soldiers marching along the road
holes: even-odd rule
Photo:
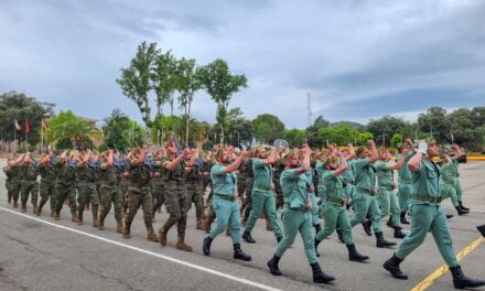
[[[187,212],[194,204],[196,229],[208,234],[203,241],[206,256],[211,255],[212,241],[226,231],[233,241],[234,258],[250,261],[240,240],[256,242],[251,230],[263,216],[278,242],[267,263],[270,272],[282,274],[279,260],[300,233],[313,281],[319,283],[335,279],[317,261],[317,247],[325,238],[336,231],[349,260],[366,261],[369,257],[359,254],[354,244],[353,227],[362,225],[367,235],[374,233],[376,247],[388,248],[397,245],[384,238],[381,219],[388,218],[394,237],[403,239],[384,265],[395,278],[408,278],[399,265],[431,231],[450,266],[454,285],[474,288],[485,282],[463,274],[448,229],[451,215],[440,207],[441,201],[450,197],[459,215],[470,212],[463,205],[459,179],[461,154],[456,144],[439,148],[432,139],[419,144],[406,140],[398,146],[396,162],[391,162],[387,149],[377,149],[371,140],[367,147],[354,149],[348,144],[342,151],[335,144],[313,151],[308,146],[258,146],[247,151],[216,144],[207,152],[182,150],[169,141],[159,148],[144,144],[128,154],[112,150],[54,154],[50,150],[34,159],[24,153],[9,159],[3,171],[8,203],[18,208],[20,198],[21,212],[28,212],[31,197],[32,211],[40,216],[48,201],[51,216],[58,220],[63,205],[68,204],[72,222],[83,225],[84,212],[90,209],[93,226],[104,230],[112,204],[116,231],[129,239],[141,206],[147,239],[166,246],[166,235],[176,225],[176,249],[184,251],[192,251],[185,230]],[[155,233],[153,219],[163,204],[169,218]],[[410,224],[411,229],[406,234],[402,224]]]

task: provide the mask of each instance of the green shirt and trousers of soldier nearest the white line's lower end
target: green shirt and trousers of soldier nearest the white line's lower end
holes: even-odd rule
[[[297,174],[295,172],[297,169],[285,169],[281,173],[280,183],[284,200],[281,216],[284,235],[278,244],[274,255],[281,258],[300,231],[306,258],[310,263],[314,263],[316,262],[316,252],[312,234],[312,215],[306,209],[308,188],[311,181],[306,179],[304,173]]]

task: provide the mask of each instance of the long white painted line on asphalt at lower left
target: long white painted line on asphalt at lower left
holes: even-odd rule
[[[273,288],[273,287],[270,287],[270,285],[261,284],[261,283],[255,282],[255,281],[250,281],[250,280],[244,279],[244,278],[239,278],[239,277],[231,276],[231,274],[228,274],[228,273],[219,272],[219,271],[216,271],[216,270],[213,270],[213,269],[208,269],[208,268],[195,265],[195,263],[191,263],[191,262],[186,262],[186,261],[183,261],[183,260],[179,260],[179,259],[175,259],[175,258],[172,258],[172,257],[169,257],[169,256],[164,256],[164,255],[161,255],[161,254],[157,254],[157,252],[153,252],[153,251],[150,251],[150,250],[146,250],[146,249],[142,249],[142,248],[137,248],[137,247],[133,247],[133,246],[130,246],[130,245],[127,245],[127,244],[123,244],[123,242],[119,242],[119,241],[111,240],[111,239],[108,239],[108,238],[105,238],[105,237],[100,237],[100,236],[97,236],[97,235],[85,233],[85,231],[82,231],[82,230],[78,230],[78,229],[75,229],[75,228],[71,228],[71,227],[67,227],[67,226],[50,223],[50,222],[46,222],[46,220],[43,220],[43,219],[40,219],[40,218],[36,218],[36,217],[32,217],[32,216],[26,215],[26,214],[23,214],[23,213],[18,213],[15,211],[11,211],[11,209],[4,208],[2,206],[0,206],[0,211],[9,212],[9,213],[15,214],[18,216],[22,216],[24,218],[29,218],[29,219],[32,219],[32,220],[35,220],[35,222],[39,222],[39,223],[42,223],[42,224],[46,224],[46,225],[50,225],[50,226],[53,226],[53,227],[57,227],[57,228],[61,228],[61,229],[64,229],[64,230],[68,230],[68,231],[72,231],[72,233],[75,233],[75,234],[78,234],[78,235],[83,235],[83,236],[87,236],[87,237],[90,237],[90,238],[95,238],[95,239],[98,239],[98,240],[101,240],[101,241],[105,241],[105,242],[108,242],[108,244],[111,244],[111,245],[116,245],[116,246],[119,246],[119,247],[131,249],[131,250],[134,250],[134,251],[138,251],[138,252],[142,252],[142,254],[146,254],[146,255],[149,255],[149,256],[152,256],[152,257],[157,257],[157,258],[160,258],[160,259],[163,259],[163,260],[175,262],[175,263],[188,267],[188,268],[193,268],[193,269],[196,269],[196,270],[200,270],[200,271],[203,271],[203,272],[212,273],[212,274],[215,274],[215,276],[218,276],[218,277],[223,277],[225,279],[229,279],[229,280],[233,280],[233,281],[236,281],[236,282],[240,282],[240,283],[245,283],[245,284],[248,284],[248,285],[251,285],[251,287],[256,287],[256,288],[259,288],[259,289],[262,289],[262,290],[272,290],[272,291],[280,290],[280,289],[277,289],[277,288]]]

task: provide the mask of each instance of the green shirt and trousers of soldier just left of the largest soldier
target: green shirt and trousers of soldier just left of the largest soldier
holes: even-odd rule
[[[352,227],[360,224],[370,215],[373,229],[375,233],[381,233],[380,209],[374,191],[375,168],[369,159],[356,159],[354,161],[355,193],[354,193],[354,216],[351,218]]]

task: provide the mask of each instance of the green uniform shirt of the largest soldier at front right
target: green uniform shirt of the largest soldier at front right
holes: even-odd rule
[[[428,159],[422,159],[419,171],[412,173],[412,193],[431,197],[440,197],[440,166]],[[417,201],[411,197],[413,204],[428,202]]]

